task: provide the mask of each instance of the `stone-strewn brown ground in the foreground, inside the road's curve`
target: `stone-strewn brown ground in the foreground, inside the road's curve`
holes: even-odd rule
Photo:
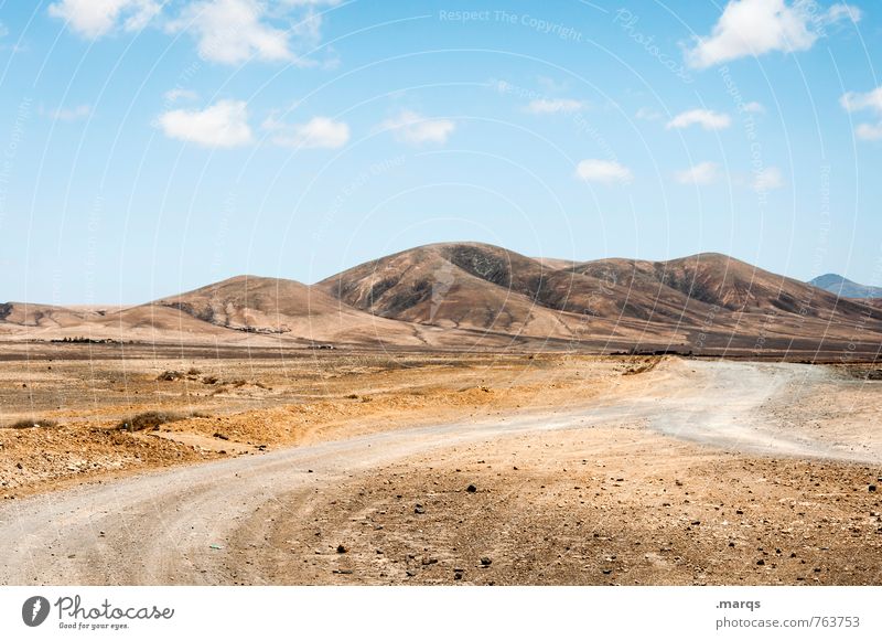
[[[275,519],[248,584],[878,585],[879,468],[720,454],[636,428],[461,447]],[[247,552],[246,552],[247,555]]]

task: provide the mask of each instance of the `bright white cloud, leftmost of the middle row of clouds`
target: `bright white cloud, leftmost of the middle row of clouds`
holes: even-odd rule
[[[248,108],[240,100],[219,100],[203,110],[165,111],[158,124],[169,138],[203,147],[233,148],[251,141]]]

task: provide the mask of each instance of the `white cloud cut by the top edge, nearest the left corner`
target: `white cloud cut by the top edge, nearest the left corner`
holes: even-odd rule
[[[58,0],[49,6],[50,15],[93,39],[110,33],[120,21],[126,31],[143,29],[161,10],[158,0]]]

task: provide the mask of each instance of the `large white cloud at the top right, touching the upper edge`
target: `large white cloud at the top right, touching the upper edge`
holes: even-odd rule
[[[824,35],[825,26],[846,19],[857,22],[861,11],[841,2],[819,12],[814,0],[730,0],[711,34],[697,39],[686,61],[706,68],[773,51],[806,51]]]

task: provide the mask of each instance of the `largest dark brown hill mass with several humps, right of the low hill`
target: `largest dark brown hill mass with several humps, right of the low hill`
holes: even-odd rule
[[[800,338],[847,340],[858,322],[882,333],[879,313],[865,305],[720,254],[568,264],[476,243],[438,244],[318,286],[385,318],[607,344],[734,340],[786,349]]]

